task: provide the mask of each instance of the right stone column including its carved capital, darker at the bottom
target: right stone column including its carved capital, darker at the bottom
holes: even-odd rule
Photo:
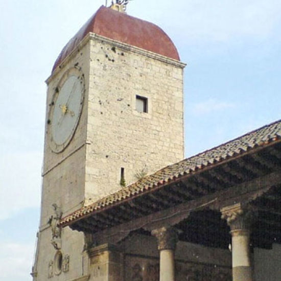
[[[232,239],[232,276],[233,281],[253,281],[250,258],[250,230],[253,222],[252,212],[241,204],[221,209],[222,218],[230,226]]]

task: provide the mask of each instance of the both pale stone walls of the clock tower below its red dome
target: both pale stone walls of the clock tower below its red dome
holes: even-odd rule
[[[55,272],[57,250],[48,223],[53,203],[65,216],[85,200],[120,189],[121,167],[129,184],[137,180],[137,172],[152,173],[183,157],[182,68],[112,47],[88,40],[48,79],[36,281],[88,274],[83,233],[68,227],[61,231],[60,249],[68,268]],[[85,79],[82,114],[69,145],[54,153],[48,140],[50,106],[63,74],[75,65]],[[148,98],[148,113],[136,112],[136,95]]]

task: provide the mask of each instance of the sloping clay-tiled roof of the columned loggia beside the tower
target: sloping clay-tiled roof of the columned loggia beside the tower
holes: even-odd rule
[[[198,173],[207,166],[210,167],[224,160],[241,156],[250,150],[268,146],[280,139],[281,120],[249,132],[218,147],[167,166],[118,192],[108,195],[91,205],[84,206],[73,214],[62,218],[60,225],[67,225],[74,220],[94,213],[96,210],[110,207],[110,205],[113,206],[118,202],[122,202],[136,195],[141,195],[148,190],[159,188],[168,182],[175,181],[181,176]]]

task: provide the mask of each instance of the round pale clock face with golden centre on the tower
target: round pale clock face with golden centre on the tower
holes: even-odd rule
[[[83,76],[68,72],[56,91],[50,110],[50,143],[52,150],[59,153],[71,141],[78,125],[84,98]]]

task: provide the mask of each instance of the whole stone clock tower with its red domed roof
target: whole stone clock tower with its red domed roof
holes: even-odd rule
[[[34,280],[96,280],[61,216],[183,158],[183,67],[160,28],[117,4],[65,45],[46,80]]]

